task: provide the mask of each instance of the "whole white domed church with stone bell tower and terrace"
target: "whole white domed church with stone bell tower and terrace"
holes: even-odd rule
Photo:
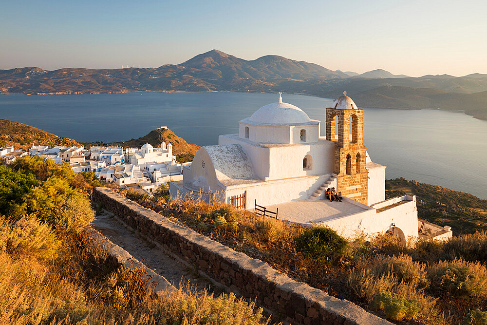
[[[320,121],[279,101],[239,122],[238,134],[220,135],[204,146],[183,180],[170,183],[171,197],[218,200],[253,211],[255,204],[303,226],[327,225],[345,237],[392,232],[418,238],[415,196],[385,200],[386,166],[372,162],[363,144],[363,110],[346,96],[326,108]],[[334,187],[342,202],[326,200]],[[236,202],[239,202],[238,205]],[[428,238],[451,237],[451,228],[432,224]]]

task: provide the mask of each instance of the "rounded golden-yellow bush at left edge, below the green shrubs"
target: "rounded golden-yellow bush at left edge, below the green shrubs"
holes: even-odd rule
[[[40,259],[56,256],[59,241],[46,224],[33,216],[0,222],[0,249],[10,254],[33,254]]]

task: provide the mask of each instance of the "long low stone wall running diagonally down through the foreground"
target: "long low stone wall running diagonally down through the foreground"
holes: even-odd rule
[[[178,255],[229,290],[255,300],[294,324],[391,324],[355,304],[294,281],[261,260],[208,237],[112,192],[96,188],[93,200],[128,226]]]

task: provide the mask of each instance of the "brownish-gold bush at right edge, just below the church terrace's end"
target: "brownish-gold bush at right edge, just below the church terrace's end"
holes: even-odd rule
[[[478,231],[472,234],[450,238],[444,246],[446,257],[481,263],[487,262],[487,232]]]

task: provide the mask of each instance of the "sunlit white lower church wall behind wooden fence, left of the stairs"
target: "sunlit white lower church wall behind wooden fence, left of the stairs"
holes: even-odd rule
[[[230,198],[241,195],[247,191],[247,209],[257,204],[268,206],[289,201],[308,199],[318,187],[327,180],[330,175],[299,177],[276,181],[251,184],[250,186],[229,187],[225,192],[225,202],[230,203]]]

